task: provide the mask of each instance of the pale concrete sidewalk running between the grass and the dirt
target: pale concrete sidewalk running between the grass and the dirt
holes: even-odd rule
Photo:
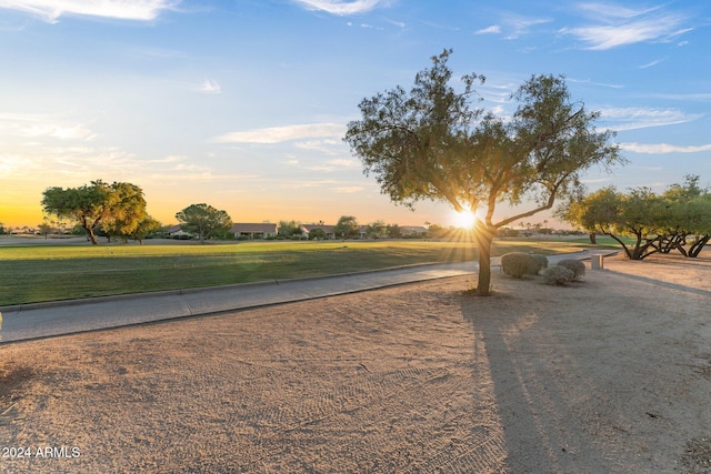
[[[561,259],[584,260],[593,253],[601,252],[583,251],[548,255],[548,259],[550,263]],[[499,265],[500,259],[492,259],[491,263]],[[314,300],[473,274],[477,270],[475,262],[415,265],[313,279],[6,306],[0,307],[0,343]]]

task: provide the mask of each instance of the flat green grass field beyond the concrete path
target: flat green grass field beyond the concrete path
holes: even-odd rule
[[[494,242],[493,254],[565,252],[584,242]],[[0,248],[0,306],[470,261],[470,242],[348,241]]]

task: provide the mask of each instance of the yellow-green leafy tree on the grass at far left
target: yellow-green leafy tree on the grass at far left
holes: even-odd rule
[[[76,221],[97,244],[94,231],[100,225],[121,226],[130,232],[146,216],[146,199],[141,188],[131,183],[92,181],[79,188],[48,188],[42,193],[46,213]]]

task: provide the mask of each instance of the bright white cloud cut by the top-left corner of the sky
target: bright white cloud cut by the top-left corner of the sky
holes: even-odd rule
[[[64,14],[150,21],[180,0],[0,0],[0,8],[19,10],[54,23]]]

